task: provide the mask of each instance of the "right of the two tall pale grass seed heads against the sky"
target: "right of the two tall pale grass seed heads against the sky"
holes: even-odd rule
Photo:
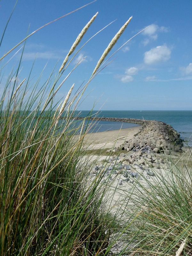
[[[131,21],[132,16],[129,18],[129,20],[127,20],[127,22],[123,25],[123,27],[120,28],[120,30],[117,32],[117,34],[113,37],[113,39],[111,40],[111,42],[109,43],[108,47],[105,49],[105,51],[103,52],[100,60],[98,61],[92,76],[97,72],[98,68],[100,67],[101,63],[103,62],[103,60],[105,59],[105,57],[108,55],[108,53],[111,51],[111,49],[113,48],[113,46],[116,44],[117,40],[119,39],[119,37],[122,35],[122,33],[124,32],[125,28],[127,27],[127,25],[129,24],[129,22]]]

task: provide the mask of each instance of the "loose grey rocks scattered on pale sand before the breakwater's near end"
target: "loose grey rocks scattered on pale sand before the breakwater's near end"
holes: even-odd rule
[[[167,168],[164,160],[154,154],[142,154],[141,152],[121,153],[119,156],[111,156],[106,165],[99,163],[94,166],[90,170],[90,175],[93,177],[102,173],[102,183],[106,183],[118,175],[118,185],[120,186],[124,182],[133,183],[136,180],[143,180],[144,177],[150,179],[151,176],[155,176],[154,171],[152,171],[153,168],[159,169],[161,167]]]

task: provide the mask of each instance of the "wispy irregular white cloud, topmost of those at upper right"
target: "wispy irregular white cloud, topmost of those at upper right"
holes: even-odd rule
[[[151,24],[150,26],[148,26],[143,32],[142,34],[144,36],[147,36],[147,38],[145,38],[142,43],[144,44],[144,46],[146,46],[150,40],[156,40],[157,39],[157,33],[158,32],[168,32],[168,28],[166,27],[159,27],[156,24]]]

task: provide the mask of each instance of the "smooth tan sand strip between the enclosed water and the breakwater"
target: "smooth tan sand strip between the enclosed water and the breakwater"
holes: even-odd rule
[[[139,125],[121,130],[88,133],[86,134],[84,141],[91,143],[89,149],[112,148],[115,143],[114,140],[124,137],[116,141],[115,147],[118,147],[124,143],[126,138],[128,140],[132,139],[134,135],[141,130],[141,128],[142,126]]]

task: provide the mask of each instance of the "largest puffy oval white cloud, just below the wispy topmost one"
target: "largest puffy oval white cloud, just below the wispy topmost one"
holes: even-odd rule
[[[171,58],[171,49],[166,45],[157,46],[144,53],[144,62],[154,64],[160,61],[167,61]]]

